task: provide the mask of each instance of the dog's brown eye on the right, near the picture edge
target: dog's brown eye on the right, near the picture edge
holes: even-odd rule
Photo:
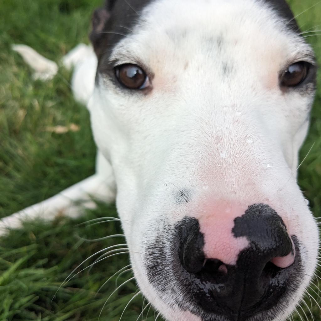
[[[309,63],[300,61],[289,66],[281,76],[281,85],[295,87],[301,84],[308,75]]]

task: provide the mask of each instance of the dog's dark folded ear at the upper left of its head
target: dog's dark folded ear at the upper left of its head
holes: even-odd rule
[[[92,15],[92,30],[89,35],[91,44],[99,57],[102,52],[103,40],[106,38],[106,25],[110,19],[110,12],[114,7],[116,0],[107,0],[102,8],[98,8]]]

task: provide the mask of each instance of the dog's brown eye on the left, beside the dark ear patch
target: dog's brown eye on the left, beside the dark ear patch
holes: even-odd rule
[[[125,64],[115,68],[118,81],[129,89],[144,89],[149,85],[146,73],[137,65]]]

